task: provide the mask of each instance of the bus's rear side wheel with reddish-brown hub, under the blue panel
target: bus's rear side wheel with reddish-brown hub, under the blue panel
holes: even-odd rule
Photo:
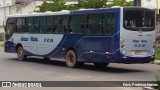
[[[77,64],[77,56],[75,51],[68,50],[66,53],[66,65],[67,67],[74,68]]]

